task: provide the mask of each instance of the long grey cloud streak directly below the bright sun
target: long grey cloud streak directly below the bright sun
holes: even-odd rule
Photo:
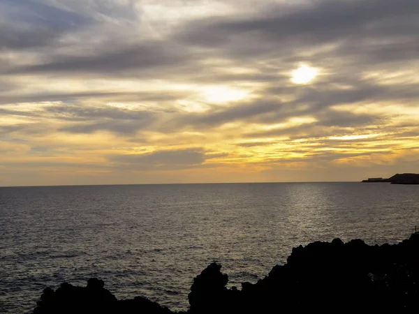
[[[278,88],[275,87],[263,92],[265,98],[255,99],[247,103],[237,103],[230,107],[215,108],[210,110],[210,112],[184,114],[182,117],[179,117],[177,123],[180,126],[189,125],[197,128],[216,127],[232,121],[277,124],[291,117],[310,115],[319,120],[316,124],[311,124],[311,127],[367,125],[383,118],[372,114],[353,114],[351,112],[330,110],[330,106],[372,100],[374,98],[376,100],[388,100],[386,97],[387,93],[381,94],[381,91],[383,91],[382,87],[371,87],[358,91],[356,89],[353,91],[307,89],[300,95],[296,94],[295,96],[299,97],[292,102],[281,103],[280,100],[275,98],[275,94],[278,93]]]

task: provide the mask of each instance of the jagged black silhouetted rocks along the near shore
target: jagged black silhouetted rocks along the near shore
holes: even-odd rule
[[[285,265],[256,284],[239,290],[227,283],[221,265],[210,264],[193,281],[187,313],[411,313],[419,310],[419,234],[397,245],[314,242],[293,248]],[[172,313],[142,297],[117,300],[103,285],[91,278],[87,287],[47,288],[34,314]]]

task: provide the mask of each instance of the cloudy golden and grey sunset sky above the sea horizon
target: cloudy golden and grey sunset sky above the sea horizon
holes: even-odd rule
[[[0,186],[419,172],[418,0],[0,0]]]

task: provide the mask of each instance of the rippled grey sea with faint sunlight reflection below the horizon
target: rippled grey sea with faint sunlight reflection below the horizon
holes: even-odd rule
[[[419,225],[419,186],[361,183],[0,188],[0,312],[45,287],[101,278],[118,299],[188,307],[213,261],[228,285],[266,276],[295,246],[395,243]]]

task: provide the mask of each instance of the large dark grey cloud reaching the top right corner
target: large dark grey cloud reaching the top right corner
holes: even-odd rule
[[[277,40],[279,45],[311,45],[354,35],[365,37],[381,33],[391,36],[391,31],[382,31],[382,27],[395,23],[399,26],[395,33],[399,34],[405,30],[403,22],[414,20],[418,14],[416,0],[321,0],[289,6],[288,10],[278,4],[262,14],[198,20],[192,25],[186,24],[179,37],[186,43],[210,47],[236,43],[237,36],[243,35],[251,36],[253,43]],[[406,29],[411,35],[417,35],[411,25]],[[248,46],[248,49],[254,47]]]

